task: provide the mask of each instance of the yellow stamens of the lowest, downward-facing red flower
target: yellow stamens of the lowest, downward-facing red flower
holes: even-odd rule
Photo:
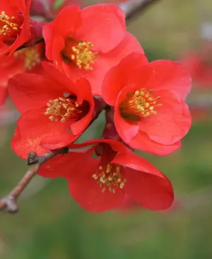
[[[114,163],[107,163],[106,166],[100,165],[97,173],[94,173],[92,177],[102,188],[102,192],[109,190],[115,193],[116,188],[124,188],[126,178],[123,178],[122,170],[120,166]]]

